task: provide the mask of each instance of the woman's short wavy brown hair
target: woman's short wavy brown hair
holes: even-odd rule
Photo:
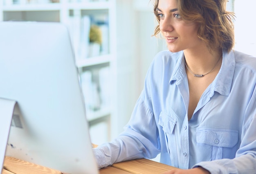
[[[160,33],[160,18],[157,15],[159,0],[154,0],[154,13],[158,25],[153,36]],[[227,0],[177,0],[177,8],[183,20],[198,24],[198,38],[211,51],[221,48],[231,51],[234,47],[234,13],[226,11]]]

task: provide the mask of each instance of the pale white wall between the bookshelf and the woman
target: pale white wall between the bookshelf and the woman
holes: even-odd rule
[[[155,28],[152,11],[149,0],[117,0],[117,134],[130,118],[150,62],[162,49],[151,36]]]

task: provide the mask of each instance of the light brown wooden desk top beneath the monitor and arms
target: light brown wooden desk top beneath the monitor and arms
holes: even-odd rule
[[[168,170],[175,169],[169,165],[157,163],[148,159],[137,159],[115,163],[99,171],[100,174],[162,174]],[[58,170],[22,161],[17,158],[4,158],[2,174],[63,174]]]

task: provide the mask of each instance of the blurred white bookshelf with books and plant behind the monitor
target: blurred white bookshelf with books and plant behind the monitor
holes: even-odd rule
[[[116,96],[116,36],[110,32],[116,26],[115,4],[115,0],[0,0],[0,21],[61,22],[69,29],[91,137],[99,137],[92,139],[95,144],[110,141],[115,119],[111,96]]]

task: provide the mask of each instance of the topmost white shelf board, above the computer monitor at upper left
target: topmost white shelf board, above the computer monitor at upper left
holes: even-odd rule
[[[61,9],[59,3],[45,3],[45,4],[11,4],[4,5],[3,11],[58,11]]]

